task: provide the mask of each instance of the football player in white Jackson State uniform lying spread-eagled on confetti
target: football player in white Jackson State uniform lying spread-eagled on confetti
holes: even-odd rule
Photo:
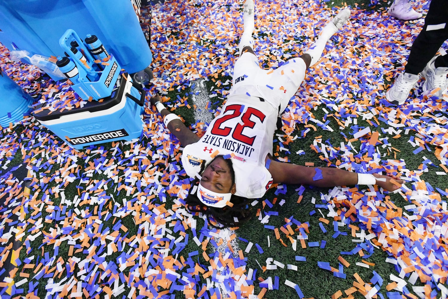
[[[302,56],[274,71],[260,69],[252,49],[253,0],[246,0],[243,17],[244,32],[238,47],[240,57],[233,69],[233,87],[222,112],[201,138],[164,107],[159,95],[151,98],[165,126],[184,147],[182,165],[186,173],[196,178],[185,199],[190,212],[202,212],[225,227],[238,226],[251,217],[250,199],[262,197],[272,183],[319,187],[376,184],[388,191],[398,189],[393,180],[400,184],[403,181],[391,174],[353,173],[272,160],[279,112],[296,93],[306,69],[321,57],[327,40],[347,22],[349,9],[341,10],[328,22]],[[316,173],[322,178],[313,180]]]

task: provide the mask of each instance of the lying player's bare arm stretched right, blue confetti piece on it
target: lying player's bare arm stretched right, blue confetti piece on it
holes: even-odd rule
[[[269,159],[268,157],[266,159]],[[318,170],[316,170],[318,169]],[[317,187],[350,186],[362,184],[358,182],[358,173],[349,172],[336,167],[308,167],[271,160],[268,168],[274,183],[306,184]],[[403,180],[395,175],[373,174],[375,183],[384,190],[395,191],[401,187]],[[398,184],[394,184],[398,182]]]

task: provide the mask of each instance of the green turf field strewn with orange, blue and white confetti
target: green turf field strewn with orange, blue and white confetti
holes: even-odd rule
[[[220,111],[230,88],[241,3],[166,1],[153,7],[155,80],[148,95],[163,94],[198,134],[207,127],[201,120]],[[305,49],[334,14],[328,4],[258,1],[255,52],[262,67]],[[422,26],[422,20],[389,18],[385,5],[351,4],[352,21],[328,43],[321,64],[292,99],[273,151],[300,165],[403,173],[407,189],[389,194],[367,186],[275,186],[254,200],[261,217],[235,230],[235,255],[228,256],[220,236],[229,232],[185,212],[179,198],[189,179],[181,152],[148,102],[140,139],[82,151],[27,118],[1,134],[2,298],[365,298],[375,286],[372,298],[440,298],[448,270],[447,103],[422,95],[421,88],[399,109],[384,102],[384,90]],[[144,27],[145,9],[142,19]],[[4,72],[36,99],[54,83],[24,76],[35,69],[9,61],[4,48],[0,58]],[[366,128],[370,132],[353,136]],[[349,211],[352,217],[345,219]],[[397,257],[404,262],[395,266]],[[266,269],[275,268],[269,258],[276,269]],[[404,267],[409,260],[416,263]],[[405,289],[394,278],[401,269]]]

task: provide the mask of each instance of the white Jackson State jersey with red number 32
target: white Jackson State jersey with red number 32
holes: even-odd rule
[[[272,155],[272,141],[278,112],[266,101],[248,95],[230,96],[219,116],[196,142],[187,145],[182,154],[185,172],[194,177],[211,156],[232,157],[236,195],[262,197],[272,184],[265,167],[267,154]]]

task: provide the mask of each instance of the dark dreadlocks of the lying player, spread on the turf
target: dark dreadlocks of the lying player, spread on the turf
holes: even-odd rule
[[[232,176],[233,184],[235,183],[235,172],[233,171],[232,160],[224,160],[230,168],[230,174]],[[205,165],[205,163],[202,163],[201,171],[199,172],[199,174],[202,174],[207,166],[208,164]],[[206,215],[208,223],[211,226],[215,228],[240,226],[252,217],[252,208],[249,205],[250,199],[234,194],[230,198],[230,202],[233,204],[232,207],[227,205],[224,208],[215,208],[203,204],[199,200],[196,192],[193,193],[193,190],[196,190],[194,186],[198,186],[199,182],[200,180],[198,178],[194,179],[190,191],[188,192],[188,196],[185,198],[185,204],[190,212],[201,212],[202,214]],[[221,226],[214,225],[213,222],[220,223]]]

